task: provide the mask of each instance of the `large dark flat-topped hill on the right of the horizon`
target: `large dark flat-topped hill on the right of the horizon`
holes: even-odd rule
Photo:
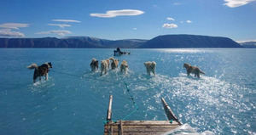
[[[242,48],[227,37],[164,35],[145,42],[141,48]]]

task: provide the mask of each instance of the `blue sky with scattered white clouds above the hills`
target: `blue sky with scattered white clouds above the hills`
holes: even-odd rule
[[[1,0],[0,37],[256,41],[256,0]]]

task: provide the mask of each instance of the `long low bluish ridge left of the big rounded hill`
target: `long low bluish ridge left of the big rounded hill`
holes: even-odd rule
[[[139,48],[146,40],[106,40],[95,37],[0,38],[0,48]]]

